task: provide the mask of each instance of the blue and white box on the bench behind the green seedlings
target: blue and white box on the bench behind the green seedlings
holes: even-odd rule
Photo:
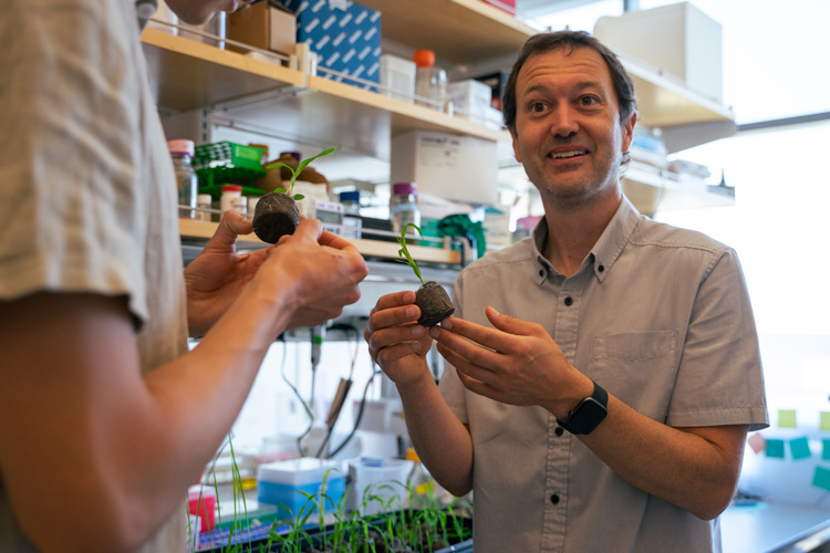
[[[334,511],[332,504],[339,505],[343,493],[345,471],[336,461],[302,457],[257,469],[257,501],[277,507],[280,519],[297,518],[303,509],[303,514],[313,513],[321,504]]]

